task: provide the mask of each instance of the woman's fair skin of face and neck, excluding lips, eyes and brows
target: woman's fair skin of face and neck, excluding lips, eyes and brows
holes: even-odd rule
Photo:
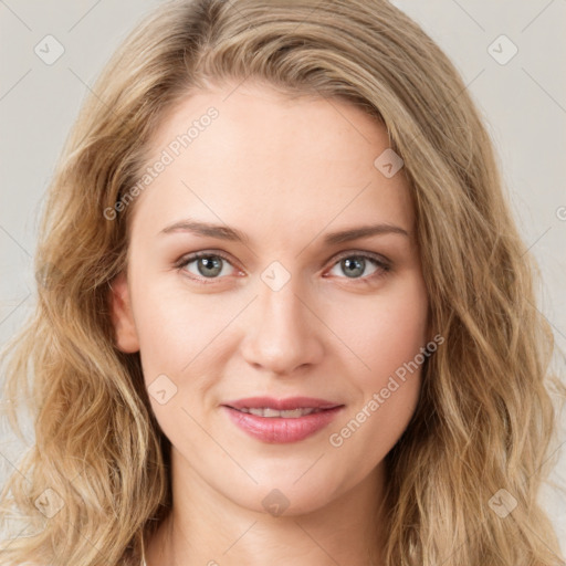
[[[130,205],[127,271],[113,284],[117,346],[140,352],[147,386],[165,375],[177,388],[165,405],[149,395],[172,444],[174,507],[147,564],[379,564],[384,458],[415,412],[420,367],[342,446],[329,437],[431,339],[408,181],[374,166],[389,139],[361,109],[260,83],[192,94],[161,123],[150,163],[210,106],[219,117]],[[189,217],[249,241],[160,233]],[[323,241],[375,223],[409,235]],[[178,266],[198,251],[229,262],[216,275]],[[366,259],[348,276],[340,260],[360,253],[390,270]],[[261,279],[274,261],[291,277],[277,291]],[[268,443],[220,407],[262,395],[345,408],[307,439]],[[279,516],[262,504],[274,489],[289,502]]]

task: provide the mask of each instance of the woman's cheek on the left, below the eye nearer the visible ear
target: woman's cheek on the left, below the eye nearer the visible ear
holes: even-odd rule
[[[230,323],[248,300],[198,294],[182,285],[181,275],[170,275],[138,280],[145,284],[136,290],[136,327],[149,401],[174,433],[190,422],[189,415],[199,418],[214,405],[214,387],[232,353]]]

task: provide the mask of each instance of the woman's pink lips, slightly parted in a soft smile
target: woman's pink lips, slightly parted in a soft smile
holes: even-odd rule
[[[222,408],[252,438],[286,443],[304,440],[325,428],[344,405],[313,397],[252,397],[228,401]]]

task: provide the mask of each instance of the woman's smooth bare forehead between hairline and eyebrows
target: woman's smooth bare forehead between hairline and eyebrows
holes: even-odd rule
[[[343,99],[259,84],[197,92],[155,133],[146,166],[166,165],[137,198],[136,218],[164,224],[199,211],[270,231],[353,220],[411,230],[402,169],[388,178],[376,166],[389,145],[384,125]]]

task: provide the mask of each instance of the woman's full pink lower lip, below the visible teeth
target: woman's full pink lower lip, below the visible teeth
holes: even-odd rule
[[[329,424],[344,406],[312,412],[295,419],[284,417],[258,417],[249,412],[241,412],[226,405],[232,422],[244,432],[258,440],[271,443],[298,442],[318,432]]]

